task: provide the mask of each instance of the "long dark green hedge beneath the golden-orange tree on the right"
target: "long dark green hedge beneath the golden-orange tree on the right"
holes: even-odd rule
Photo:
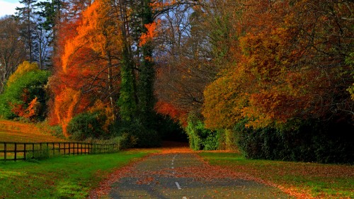
[[[282,126],[258,129],[245,124],[246,120],[237,123],[234,132],[246,158],[354,163],[354,129],[350,123],[292,120]]]

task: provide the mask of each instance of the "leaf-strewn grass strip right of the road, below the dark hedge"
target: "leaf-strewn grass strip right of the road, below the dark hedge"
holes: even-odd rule
[[[245,159],[231,152],[201,152],[200,157],[314,198],[354,198],[354,166]]]

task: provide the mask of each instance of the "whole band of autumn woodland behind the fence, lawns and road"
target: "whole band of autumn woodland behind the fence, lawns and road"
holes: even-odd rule
[[[0,115],[69,139],[161,139],[354,163],[349,0],[22,0],[0,19]]]

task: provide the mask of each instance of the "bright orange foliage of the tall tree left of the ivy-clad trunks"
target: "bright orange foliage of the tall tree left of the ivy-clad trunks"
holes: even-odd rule
[[[108,105],[118,93],[120,23],[110,6],[107,0],[94,1],[75,22],[63,24],[67,32],[59,33],[63,40],[58,41],[59,57],[49,83],[54,95],[50,123],[61,125],[65,136],[76,114],[95,101]]]

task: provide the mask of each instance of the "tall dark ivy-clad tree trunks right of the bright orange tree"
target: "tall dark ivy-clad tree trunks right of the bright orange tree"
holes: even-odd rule
[[[121,85],[118,106],[120,118],[133,136],[138,147],[159,144],[159,136],[153,129],[154,113],[154,47],[151,40],[141,45],[141,37],[147,34],[147,24],[154,22],[150,0],[119,1],[122,20]],[[127,15],[127,8],[130,14]],[[137,132],[137,130],[139,132]]]

